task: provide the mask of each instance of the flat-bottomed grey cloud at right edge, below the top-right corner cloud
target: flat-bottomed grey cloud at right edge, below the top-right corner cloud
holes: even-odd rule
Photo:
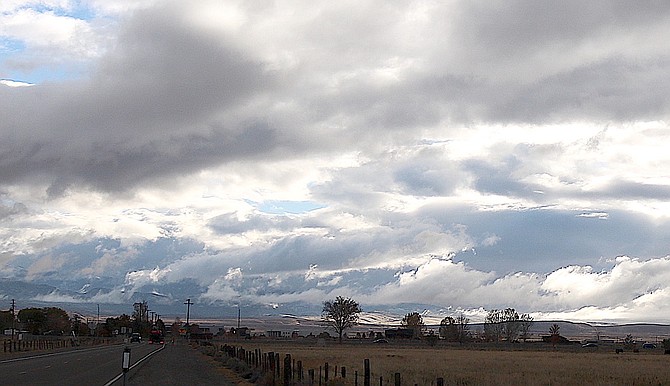
[[[668,53],[670,54],[670,52]],[[511,86],[507,98],[495,101],[492,120],[544,122],[554,119],[634,121],[665,117],[670,108],[670,56],[645,61],[612,57],[547,76],[528,85]]]

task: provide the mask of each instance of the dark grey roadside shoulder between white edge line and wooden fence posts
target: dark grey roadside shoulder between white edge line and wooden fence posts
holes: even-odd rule
[[[120,383],[115,383],[120,384]],[[126,385],[237,385],[226,371],[186,342],[169,342],[129,372]]]

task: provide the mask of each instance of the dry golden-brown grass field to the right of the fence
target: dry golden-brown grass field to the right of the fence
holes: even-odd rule
[[[240,341],[247,350],[291,354],[318,375],[328,362],[330,377],[335,366],[347,369],[346,382],[354,384],[354,372],[362,385],[364,359],[370,359],[372,385],[393,385],[394,374],[401,374],[403,385],[435,385],[438,377],[445,385],[670,385],[670,355],[662,349],[616,354],[614,349],[483,349],[471,346],[429,347],[401,345],[339,345],[292,341]]]

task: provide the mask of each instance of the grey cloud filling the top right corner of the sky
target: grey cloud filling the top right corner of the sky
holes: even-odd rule
[[[670,5],[662,1],[468,1],[459,4],[457,15],[453,21],[464,43],[487,48],[475,53],[504,58],[551,44],[570,47],[599,33],[643,30],[667,20]]]

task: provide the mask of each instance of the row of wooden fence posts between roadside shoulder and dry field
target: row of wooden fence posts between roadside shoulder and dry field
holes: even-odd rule
[[[319,366],[317,372],[317,369],[303,368],[302,361],[296,361],[291,354],[285,354],[282,359],[281,354],[279,353],[263,353],[260,349],[254,349],[252,351],[229,345],[221,345],[218,349],[222,351],[224,355],[231,358],[237,358],[248,366],[260,370],[261,373],[265,374],[268,384],[273,386],[322,386],[329,384],[353,384],[354,386],[372,386],[373,384],[384,386],[393,384],[394,386],[401,386],[402,376],[400,373],[395,373],[392,380],[385,380],[381,376],[373,379],[369,359],[363,361],[362,374],[359,374],[358,371],[354,371],[354,374],[350,374],[347,372],[345,366],[331,366],[328,362],[324,363],[323,366]],[[437,378],[435,380],[435,385],[443,386],[444,378]]]

